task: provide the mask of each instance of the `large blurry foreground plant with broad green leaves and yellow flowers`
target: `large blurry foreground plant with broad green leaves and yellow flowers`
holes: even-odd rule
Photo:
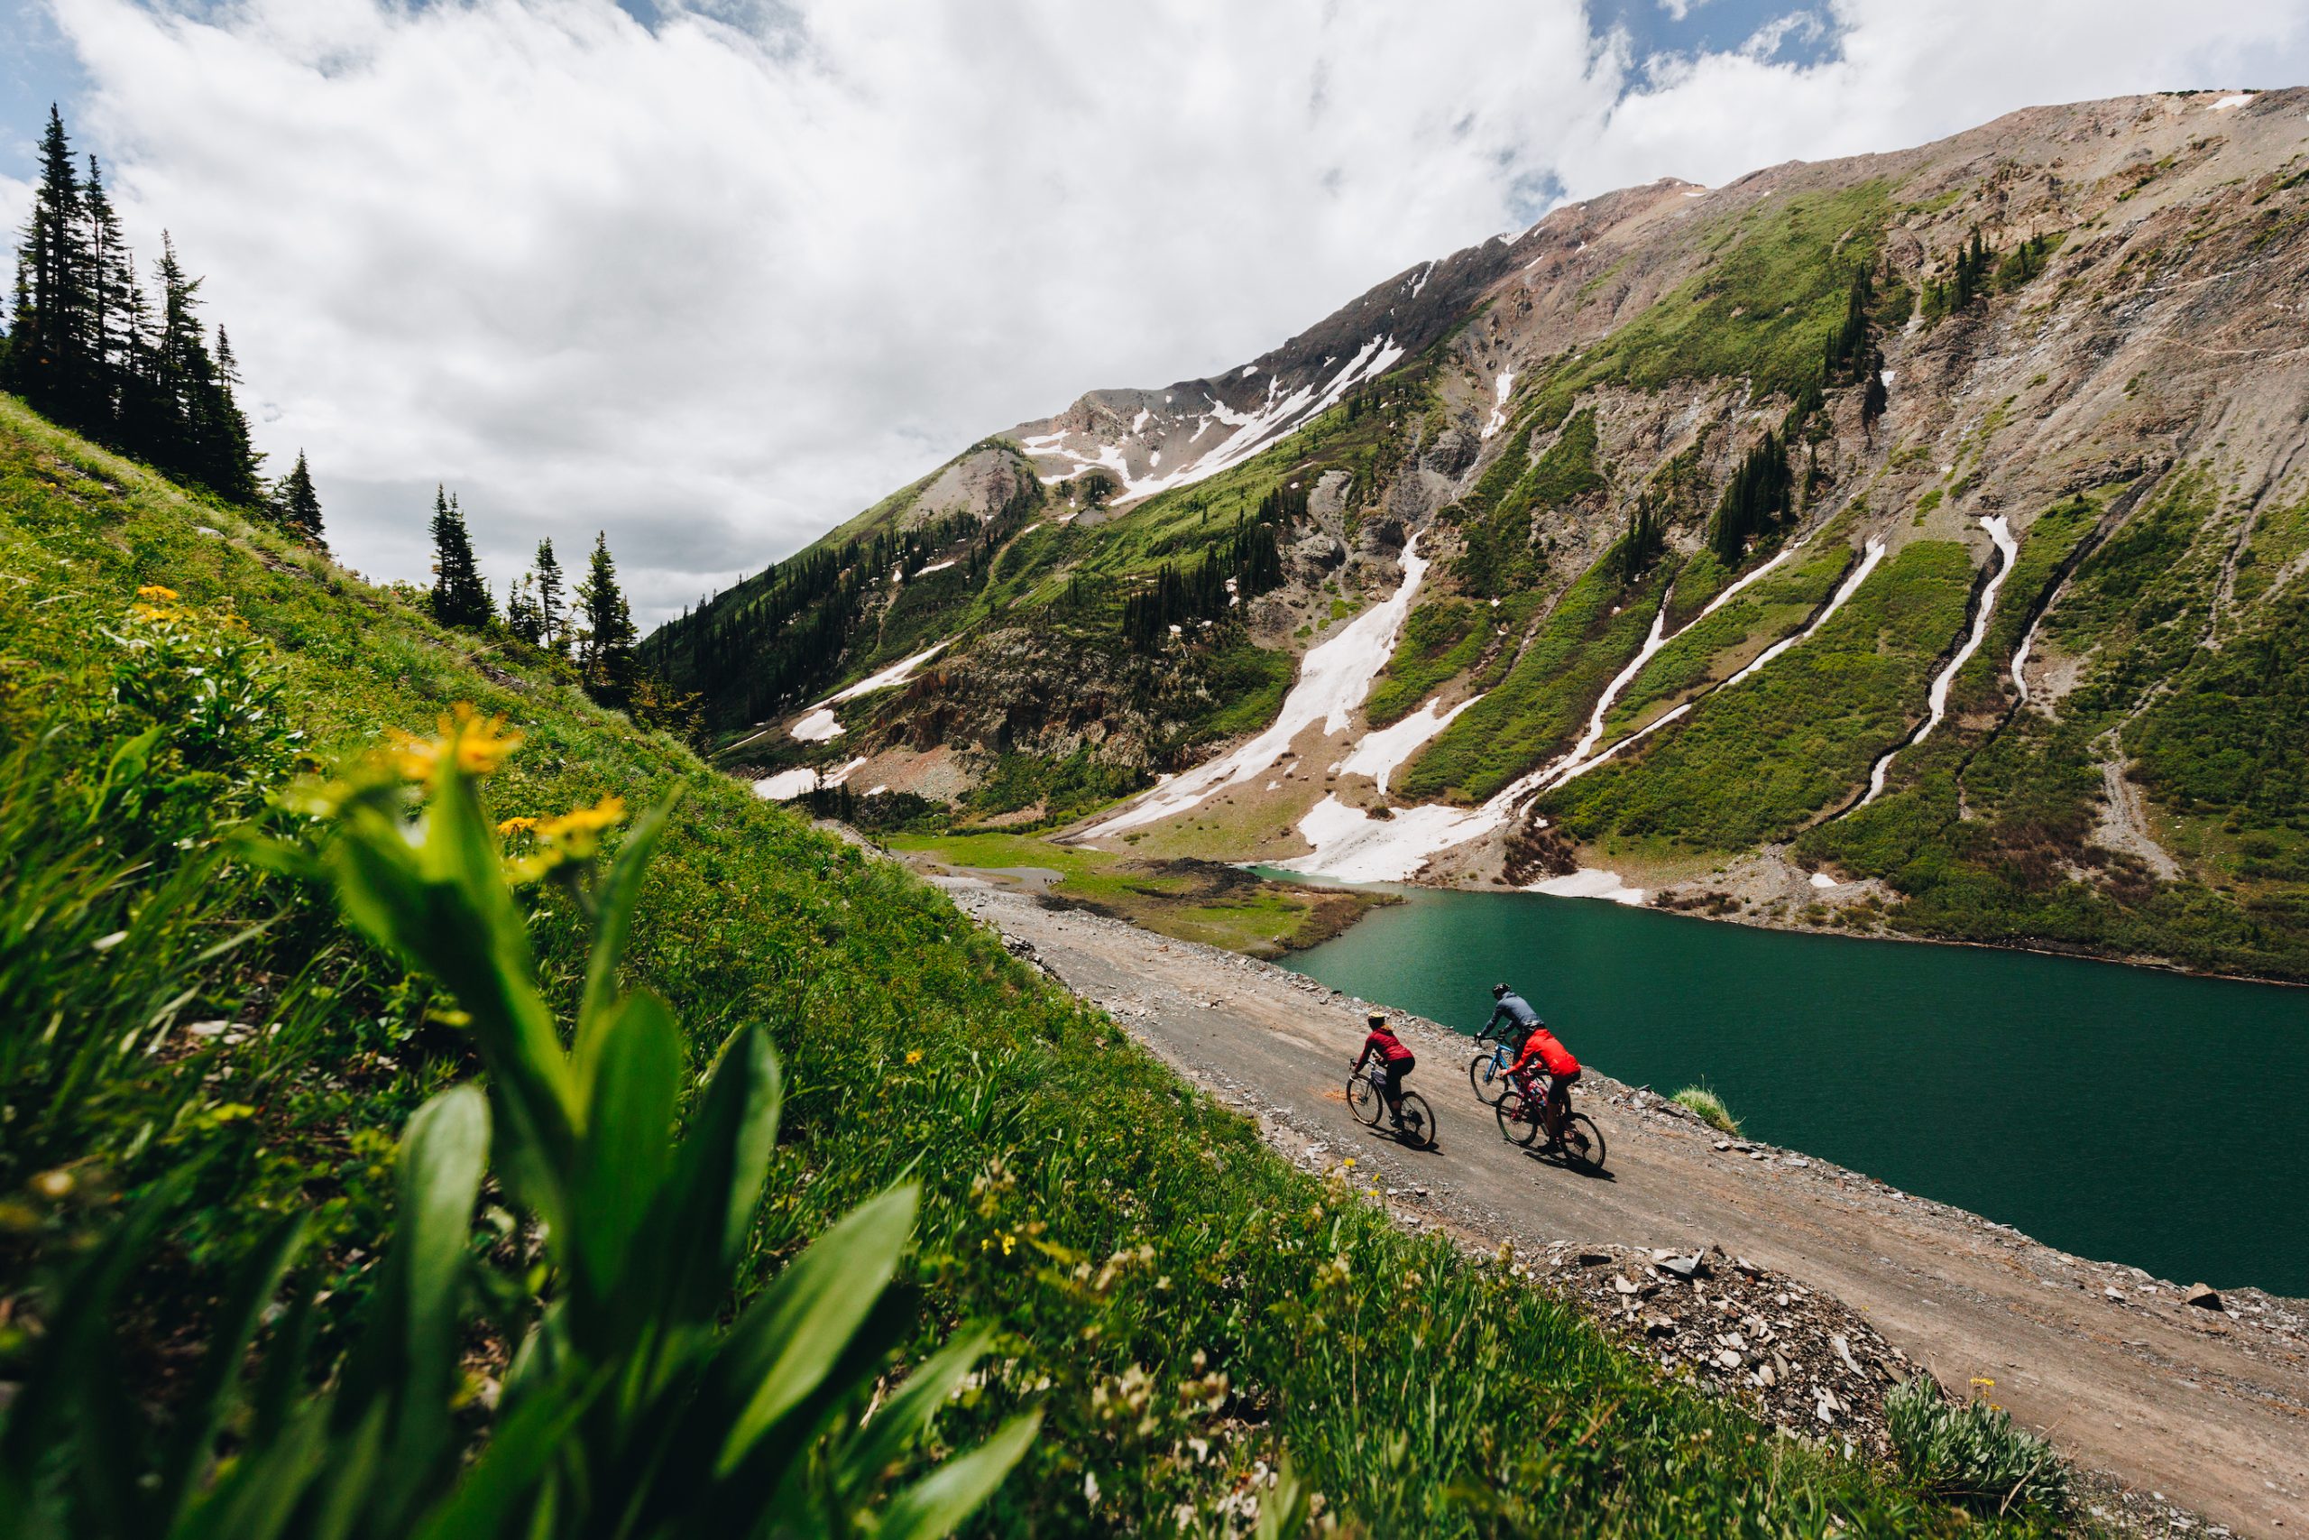
[[[776,1057],[760,1027],[737,1032],[677,1136],[674,1016],[617,986],[663,808],[586,887],[598,833],[621,813],[607,803],[522,829],[536,852],[510,868],[566,880],[593,907],[575,1048],[561,1048],[473,783],[510,748],[490,723],[443,723],[395,757],[429,780],[416,822],[402,778],[372,769],[316,799],[332,829],[319,864],[277,854],[457,995],[490,1071],[487,1094],[459,1085],[409,1120],[397,1235],[351,1355],[307,1390],[305,1286],[272,1309],[305,1226],[279,1221],[231,1281],[173,1429],[155,1434],[122,1390],[109,1316],[182,1198],[162,1184],[51,1295],[48,1335],[0,1427],[0,1510],[18,1533],[942,1535],[1034,1438],[1037,1418],[1018,1418],[887,1494],[988,1344],[963,1330],[882,1388],[861,1425],[912,1325],[891,1288],[912,1187],[827,1231],[725,1330],[776,1145]],[[480,1277],[473,1212],[490,1175],[543,1247],[536,1288]],[[476,1295],[510,1302],[494,1325],[520,1348],[494,1431],[466,1461],[455,1404]]]

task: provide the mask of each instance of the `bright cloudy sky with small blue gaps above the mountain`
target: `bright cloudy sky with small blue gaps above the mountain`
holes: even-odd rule
[[[337,552],[679,610],[972,439],[1251,358],[1561,199],[2309,81],[2302,0],[0,0]]]

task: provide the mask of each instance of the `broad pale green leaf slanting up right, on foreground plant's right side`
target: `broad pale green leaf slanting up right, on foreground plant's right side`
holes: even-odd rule
[[[850,1335],[898,1272],[919,1198],[912,1184],[894,1187],[850,1212],[787,1265],[730,1332],[716,1378],[746,1401],[723,1441],[716,1475],[734,1471],[843,1355]]]

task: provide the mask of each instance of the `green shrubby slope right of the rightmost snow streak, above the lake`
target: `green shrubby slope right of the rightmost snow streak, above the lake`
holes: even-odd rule
[[[1808,831],[1796,852],[1884,877],[1903,894],[1891,921],[1923,935],[2309,979],[2309,593],[2279,591],[2219,651],[2198,646],[2228,540],[2205,473],[2170,476],[2076,561],[2041,628],[2041,646],[2080,670],[2057,716],[2004,711],[2000,674],[2023,623],[2113,492],[2030,524],[1988,642],[1949,693],[1949,732],[1905,753],[1875,806]],[[2272,522],[2286,538],[2286,515]],[[1967,711],[1990,725],[1967,727]],[[2138,762],[2154,836],[2191,875],[2157,880],[2094,843],[2101,764],[2117,753]],[[2099,882],[2080,880],[2080,861]]]

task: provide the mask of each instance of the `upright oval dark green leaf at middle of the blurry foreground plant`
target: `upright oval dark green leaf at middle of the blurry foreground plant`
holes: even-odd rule
[[[570,1242],[586,1291],[603,1300],[633,1263],[663,1274],[663,1258],[635,1256],[633,1244],[665,1194],[681,1097],[681,1037],[663,1000],[628,995],[612,1009],[586,1094]]]

